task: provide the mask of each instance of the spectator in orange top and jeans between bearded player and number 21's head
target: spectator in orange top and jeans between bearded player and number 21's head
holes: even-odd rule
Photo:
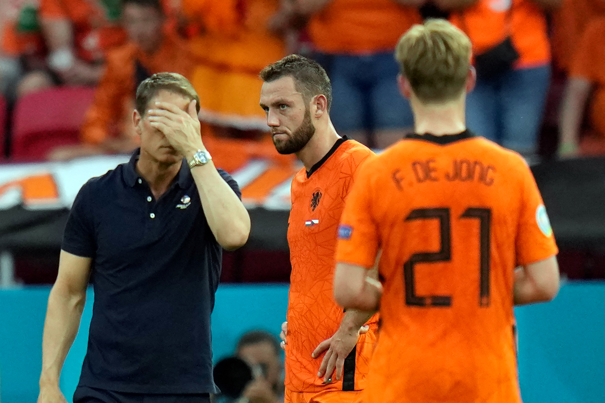
[[[414,124],[410,105],[397,90],[393,50],[420,22],[425,0],[296,0],[309,18],[315,59],[332,82],[330,116],[339,134],[385,148]]]

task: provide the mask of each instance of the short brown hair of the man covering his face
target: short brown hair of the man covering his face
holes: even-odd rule
[[[200,113],[200,96],[188,79],[178,73],[155,73],[137,88],[136,108],[141,116],[145,115],[149,101],[162,90],[180,94],[189,100],[195,99],[195,109]]]

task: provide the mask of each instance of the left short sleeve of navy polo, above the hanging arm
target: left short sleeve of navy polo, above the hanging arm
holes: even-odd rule
[[[78,192],[67,218],[61,245],[65,252],[81,257],[94,257],[97,249],[91,188],[91,181],[88,181]]]

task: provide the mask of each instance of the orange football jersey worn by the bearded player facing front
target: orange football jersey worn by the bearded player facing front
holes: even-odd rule
[[[292,180],[286,387],[293,392],[359,390],[367,374],[376,316],[370,319],[370,332],[360,337],[345,360],[341,381],[322,384],[317,373],[323,355],[313,359],[311,353],[332,337],[344,315],[333,293],[338,224],[355,172],[372,155],[366,146],[344,137],[309,174],[303,168]]]

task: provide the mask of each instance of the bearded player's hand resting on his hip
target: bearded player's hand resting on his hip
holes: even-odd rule
[[[318,358],[325,351],[324,359],[321,361],[319,372],[317,373],[319,378],[324,377],[325,384],[339,381],[342,378],[344,359],[347,358],[356,346],[362,329],[364,333],[367,332],[367,329],[364,328],[365,326],[353,331],[339,328],[332,337],[319,343],[319,346],[313,351],[311,355],[313,358]],[[336,379],[334,378],[335,370]]]

